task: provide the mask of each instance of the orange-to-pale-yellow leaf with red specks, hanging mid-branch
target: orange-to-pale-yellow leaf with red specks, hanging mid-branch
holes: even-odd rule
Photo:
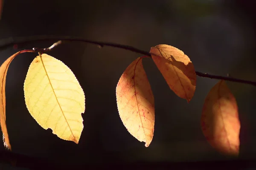
[[[120,77],[116,102],[128,132],[148,147],[154,133],[154,96],[141,57],[135,59]]]

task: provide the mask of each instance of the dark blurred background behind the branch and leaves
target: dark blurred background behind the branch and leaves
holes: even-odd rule
[[[256,81],[255,6],[253,0],[5,0],[0,38],[69,35],[145,51],[169,44],[184,51],[196,71]],[[0,63],[18,50],[52,43],[18,45],[17,50],[11,46],[0,51]],[[155,99],[154,137],[146,148],[123,126],[115,98],[119,77],[140,54],[80,42],[60,45],[48,54],[64,62],[84,89],[79,144],[44,130],[26,109],[23,82],[36,56],[27,53],[14,59],[6,81],[13,152],[69,165],[229,159],[207,143],[200,127],[204,98],[218,80],[197,77],[195,95],[188,104],[169,89],[151,59],[143,60]],[[239,160],[256,159],[256,88],[227,83],[239,106]],[[0,150],[4,150],[2,142]]]

